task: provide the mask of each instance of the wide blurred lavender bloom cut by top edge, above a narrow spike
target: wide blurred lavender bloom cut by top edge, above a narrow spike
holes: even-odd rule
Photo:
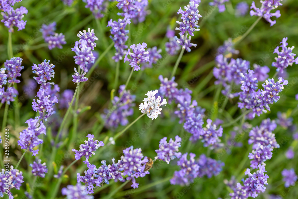
[[[117,7],[124,13],[117,13],[119,16],[131,18],[134,23],[145,21],[147,15],[148,0],[116,0]]]

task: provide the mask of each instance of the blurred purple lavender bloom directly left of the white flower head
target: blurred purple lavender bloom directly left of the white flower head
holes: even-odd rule
[[[107,128],[117,128],[119,124],[125,126],[128,124],[128,116],[134,114],[135,106],[134,101],[136,100],[135,95],[131,95],[129,90],[123,90],[125,85],[121,85],[119,88],[119,94],[121,98],[115,96],[112,100],[113,106],[116,106],[114,110],[105,109],[105,114],[102,115],[103,120],[105,121],[105,127]],[[110,113],[110,111],[112,111]],[[109,117],[107,118],[107,116]]]

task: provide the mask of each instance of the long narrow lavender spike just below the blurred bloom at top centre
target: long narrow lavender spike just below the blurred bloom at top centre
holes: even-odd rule
[[[123,55],[126,53],[125,49],[127,49],[128,46],[125,45],[125,42],[128,40],[127,34],[129,33],[129,30],[125,30],[125,27],[130,23],[130,18],[118,19],[118,22],[113,21],[112,19],[108,21],[107,27],[111,27],[110,32],[114,35],[114,37],[110,36],[110,38],[114,41],[114,47],[116,49],[115,56],[112,57],[115,62],[122,60]]]

